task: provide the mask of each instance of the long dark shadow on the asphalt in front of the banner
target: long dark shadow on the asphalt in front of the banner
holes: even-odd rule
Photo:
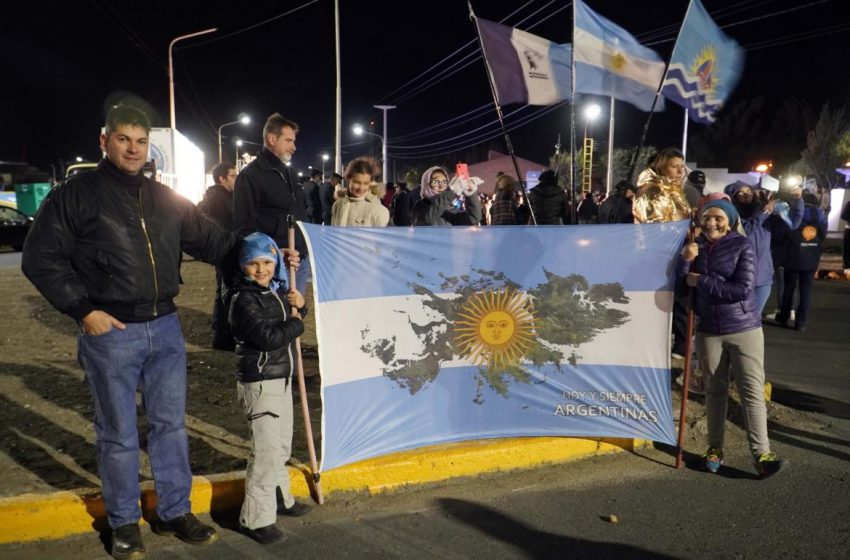
[[[525,558],[602,560],[675,558],[627,544],[591,541],[547,533],[500,511],[465,500],[442,498],[437,500],[437,503],[443,511],[459,521],[522,551]]]

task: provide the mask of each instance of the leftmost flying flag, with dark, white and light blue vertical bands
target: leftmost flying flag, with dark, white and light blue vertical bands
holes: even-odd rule
[[[554,105],[570,97],[570,45],[475,18],[499,105]]]

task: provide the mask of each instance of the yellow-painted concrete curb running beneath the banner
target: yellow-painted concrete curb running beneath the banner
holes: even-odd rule
[[[339,492],[376,494],[408,485],[484,473],[527,469],[546,464],[634,451],[651,445],[645,440],[517,438],[438,445],[360,461],[322,473],[325,497]],[[289,468],[292,493],[310,496],[309,468]],[[192,483],[192,511],[207,513],[238,507],[245,488],[244,471],[196,476]],[[142,484],[142,511],[155,516],[156,493],[152,482]],[[24,494],[0,499],[0,544],[70,535],[106,528],[106,511],[97,490]]]

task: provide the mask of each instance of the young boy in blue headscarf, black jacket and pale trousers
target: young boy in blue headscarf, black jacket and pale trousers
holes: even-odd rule
[[[239,266],[242,275],[229,318],[236,339],[237,392],[251,438],[239,526],[255,541],[271,544],[285,538],[275,526],[278,514],[297,517],[310,511],[292,497],[286,468],[292,449],[292,345],[304,332],[306,308],[304,296],[287,289],[283,256],[271,237],[247,236]],[[290,307],[298,311],[290,313]]]

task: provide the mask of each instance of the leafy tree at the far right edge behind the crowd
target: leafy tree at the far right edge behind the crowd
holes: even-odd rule
[[[831,189],[838,184],[835,170],[847,161],[848,133],[845,108],[833,111],[826,103],[814,130],[809,131],[806,149],[800,154],[819,185]]]

